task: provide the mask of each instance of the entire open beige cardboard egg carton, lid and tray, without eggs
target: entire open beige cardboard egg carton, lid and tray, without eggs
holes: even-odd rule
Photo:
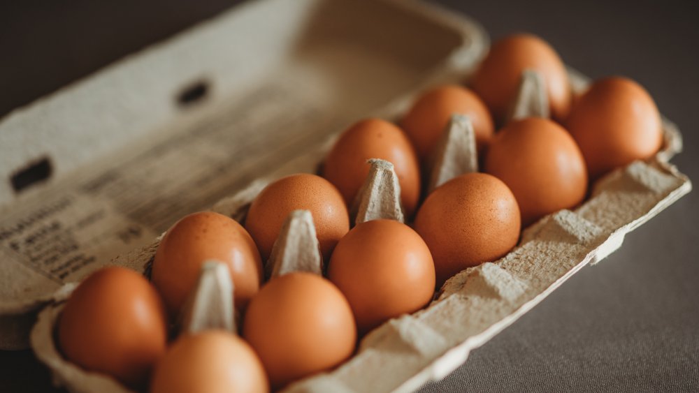
[[[361,31],[352,28],[360,25]],[[257,41],[247,43],[243,36]],[[424,3],[262,0],[10,114],[0,122],[0,168],[13,180],[0,185],[2,348],[22,347],[36,311],[45,306],[31,339],[55,381],[75,392],[123,392],[114,380],[66,362],[53,342],[73,282],[107,263],[148,274],[159,240],[148,242],[187,212],[213,205],[243,221],[268,181],[315,171],[333,142],[329,131],[368,115],[399,119],[424,87],[467,80],[487,45],[475,22]],[[584,88],[584,77],[570,73],[574,89]],[[535,75],[523,79],[520,95],[528,98],[518,100],[513,117],[545,110],[535,94],[539,82]],[[203,101],[192,101],[202,95]],[[289,130],[289,142],[278,137],[279,124]],[[458,161],[449,153],[455,143],[473,143],[468,132],[459,132],[468,130],[468,121],[452,125],[441,156],[435,156],[448,165],[437,165],[433,185],[477,165],[473,157]],[[309,127],[317,130],[304,133]],[[669,121],[663,127],[665,143],[656,157],[600,179],[583,205],[526,228],[504,258],[456,274],[426,309],[384,323],[338,369],[287,390],[402,392],[447,375],[470,350],[691,190],[689,179],[668,163],[682,148],[679,132]],[[224,143],[231,141],[236,144]],[[185,151],[197,149],[200,156],[174,165],[187,157]],[[37,168],[41,175],[47,163],[50,179],[20,193],[23,176]],[[375,173],[375,184],[386,181],[391,184],[390,172]],[[124,190],[134,195],[115,195]],[[178,198],[157,200],[163,194]],[[190,194],[194,199],[187,205],[177,205]],[[392,195],[398,194],[394,187]],[[360,200],[357,215],[368,219],[384,212],[375,202]],[[290,232],[308,230],[303,221],[297,224],[289,225]],[[66,237],[75,247],[66,251],[68,260],[56,262],[56,250],[36,245]],[[226,321],[222,316],[205,325]]]

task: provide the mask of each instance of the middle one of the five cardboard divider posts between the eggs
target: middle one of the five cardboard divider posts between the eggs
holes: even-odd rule
[[[394,165],[379,158],[370,158],[368,163],[371,165],[369,174],[357,193],[356,207],[352,209],[356,211],[351,214],[355,217],[354,225],[380,218],[405,222],[401,184]]]

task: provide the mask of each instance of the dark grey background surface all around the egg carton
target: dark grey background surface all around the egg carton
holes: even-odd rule
[[[238,1],[4,1],[0,116]],[[590,77],[626,75],[679,125],[699,179],[699,7],[691,1],[438,1],[496,39],[538,34]],[[682,198],[471,353],[426,392],[699,391],[699,197]],[[0,391],[50,390],[29,351],[0,351]]]

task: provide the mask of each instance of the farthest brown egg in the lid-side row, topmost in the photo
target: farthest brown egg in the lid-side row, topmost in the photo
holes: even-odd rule
[[[552,116],[565,119],[572,99],[568,73],[554,48],[537,36],[513,34],[498,40],[480,64],[471,87],[483,98],[493,117],[503,121],[517,96],[525,69],[541,73]]]

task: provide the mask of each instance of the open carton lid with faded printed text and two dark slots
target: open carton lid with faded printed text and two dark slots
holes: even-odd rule
[[[253,179],[312,172],[329,135],[463,80],[487,43],[418,1],[250,1],[15,110],[0,120],[0,348],[27,347],[64,284],[140,269],[123,255]]]

